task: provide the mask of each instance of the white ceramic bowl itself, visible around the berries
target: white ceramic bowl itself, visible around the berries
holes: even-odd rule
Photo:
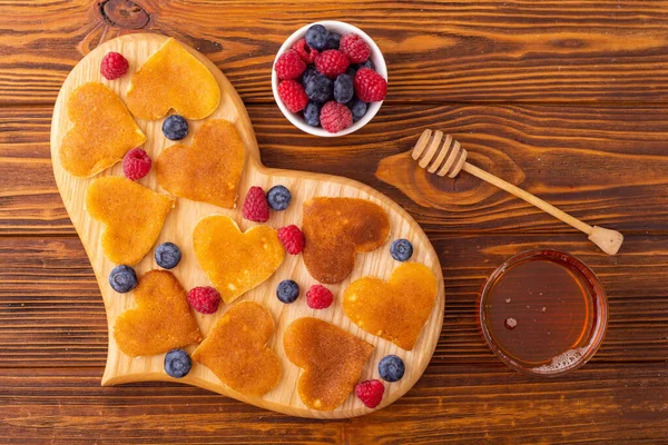
[[[385,65],[385,59],[383,58],[383,55],[381,53],[381,50],[379,49],[377,44],[375,44],[375,42],[371,39],[371,37],[369,37],[364,31],[362,31],[357,27],[353,27],[352,24],[344,23],[342,21],[324,20],[324,21],[317,21],[314,23],[308,23],[308,24],[299,28],[298,30],[293,32],[293,34],[291,37],[288,37],[285,40],[285,42],[278,50],[278,53],[276,53],[276,59],[274,59],[274,63],[276,63],[276,60],[278,59],[278,57],[282,53],[284,53],[285,51],[291,49],[292,46],[297,40],[303,38],[306,34],[306,30],[308,28],[311,28],[313,24],[322,24],[323,27],[327,28],[328,31],[334,31],[341,36],[348,33],[348,32],[354,32],[354,33],[358,34],[362,39],[364,39],[366,44],[369,44],[369,47],[371,48],[370,59],[373,62],[373,65],[375,66],[376,72],[379,75],[383,76],[385,79],[387,79],[387,66]],[[312,127],[312,126],[307,125],[304,121],[304,118],[302,117],[301,112],[292,112],[287,109],[287,107],[285,107],[285,105],[278,97],[278,77],[276,76],[276,71],[274,70],[273,66],[272,66],[272,91],[274,92],[274,100],[276,101],[276,105],[278,105],[278,108],[281,108],[281,111],[283,111],[283,113],[285,115],[287,120],[293,122],[293,125],[295,127],[297,127],[302,131],[311,134],[311,135],[324,136],[324,137],[330,137],[330,138],[336,137],[336,136],[350,135],[353,131],[357,131],[360,128],[364,127],[371,119],[373,119],[375,113],[379,112],[379,110],[381,109],[381,105],[383,105],[382,101],[369,103],[367,108],[366,108],[366,115],[364,115],[364,117],[362,119],[357,120],[356,122],[353,122],[353,125],[350,126],[348,128],[346,128],[345,130],[342,130],[338,132],[328,132],[328,131],[324,130],[322,127]]]

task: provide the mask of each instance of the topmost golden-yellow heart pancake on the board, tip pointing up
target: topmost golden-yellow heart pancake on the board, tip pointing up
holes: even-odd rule
[[[126,103],[139,119],[154,120],[174,109],[204,119],[218,108],[220,88],[212,72],[179,42],[168,39],[132,75]]]

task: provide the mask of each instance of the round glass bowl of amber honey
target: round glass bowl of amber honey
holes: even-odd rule
[[[505,364],[558,375],[593,356],[608,310],[603,288],[582,261],[556,250],[532,250],[490,276],[479,315],[483,336]]]

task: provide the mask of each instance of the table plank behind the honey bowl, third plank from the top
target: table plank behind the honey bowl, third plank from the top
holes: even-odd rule
[[[610,320],[595,363],[668,362],[668,236],[631,236],[609,257],[571,235],[428,235],[446,294],[434,366],[499,364],[478,328],[478,293],[503,260],[541,247],[579,257],[607,289]],[[77,238],[0,238],[0,367],[104,366],[105,308]]]

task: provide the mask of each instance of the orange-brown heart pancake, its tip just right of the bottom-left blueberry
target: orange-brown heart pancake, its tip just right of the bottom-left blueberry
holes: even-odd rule
[[[255,301],[242,301],[223,315],[193,359],[234,390],[259,397],[281,379],[278,356],[266,347],[272,335],[272,314]]]

